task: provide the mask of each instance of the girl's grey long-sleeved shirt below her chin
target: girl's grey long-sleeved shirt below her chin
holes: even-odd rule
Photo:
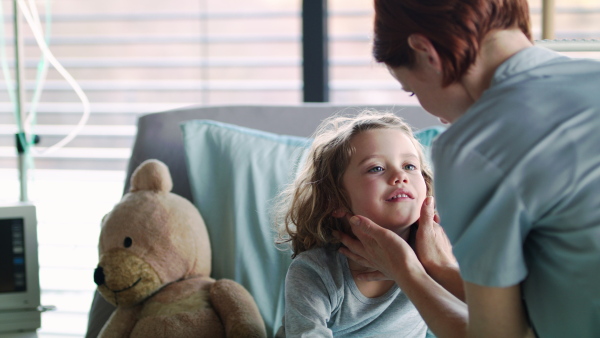
[[[394,285],[377,298],[359,290],[337,250],[299,254],[285,281],[284,326],[277,337],[425,337],[427,326]]]

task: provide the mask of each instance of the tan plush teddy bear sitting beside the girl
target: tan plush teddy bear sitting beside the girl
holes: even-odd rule
[[[99,337],[266,337],[250,293],[210,278],[204,220],[172,187],[168,167],[147,160],[102,219],[94,281],[116,310]]]

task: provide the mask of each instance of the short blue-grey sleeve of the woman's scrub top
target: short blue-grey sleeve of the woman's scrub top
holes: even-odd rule
[[[521,282],[530,221],[513,177],[473,150],[438,147],[434,156],[440,223],[463,279],[491,287]]]

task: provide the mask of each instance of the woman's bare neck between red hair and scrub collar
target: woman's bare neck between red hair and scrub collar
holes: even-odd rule
[[[475,64],[461,82],[473,101],[490,87],[496,69],[511,56],[533,44],[520,29],[495,30],[483,39]]]

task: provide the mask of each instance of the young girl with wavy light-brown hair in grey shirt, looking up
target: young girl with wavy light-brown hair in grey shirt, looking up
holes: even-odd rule
[[[334,231],[351,233],[348,218],[357,214],[409,241],[431,177],[410,126],[392,113],[334,116],[319,126],[280,199],[278,242],[289,242],[293,260],[278,337],[425,337],[424,321],[393,281],[356,278],[369,270],[338,252]]]

